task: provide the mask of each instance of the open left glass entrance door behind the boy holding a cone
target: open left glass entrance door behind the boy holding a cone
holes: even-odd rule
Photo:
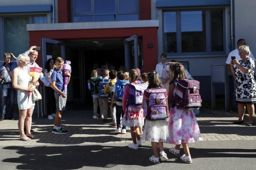
[[[65,46],[62,41],[42,38],[41,46],[42,46],[41,61],[42,61],[43,72],[44,72],[46,62],[48,59],[53,58],[55,60],[55,58],[61,57],[65,61]],[[46,109],[47,98],[46,98],[44,85],[42,86],[42,89],[43,89],[43,96],[44,96],[43,103],[42,103],[44,112],[42,112],[42,116],[44,116],[44,115],[47,115],[47,109]]]

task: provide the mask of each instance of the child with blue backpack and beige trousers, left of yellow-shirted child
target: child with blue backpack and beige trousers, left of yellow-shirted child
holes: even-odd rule
[[[103,122],[107,122],[108,119],[108,95],[105,94],[105,87],[109,83],[109,70],[104,69],[102,71],[103,78],[99,82],[99,107],[101,118]]]

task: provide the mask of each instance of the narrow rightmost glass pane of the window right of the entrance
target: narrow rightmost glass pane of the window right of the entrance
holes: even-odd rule
[[[211,10],[212,52],[223,52],[223,10]]]

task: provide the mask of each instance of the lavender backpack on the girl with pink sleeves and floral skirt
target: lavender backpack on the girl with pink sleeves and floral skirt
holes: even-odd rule
[[[144,90],[148,88],[148,84],[132,83],[132,84],[127,84],[127,86],[129,87],[127,106],[139,107],[142,104],[143,93],[144,93]]]

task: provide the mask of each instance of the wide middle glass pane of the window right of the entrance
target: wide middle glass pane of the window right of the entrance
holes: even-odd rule
[[[181,12],[182,52],[206,52],[205,11]]]

